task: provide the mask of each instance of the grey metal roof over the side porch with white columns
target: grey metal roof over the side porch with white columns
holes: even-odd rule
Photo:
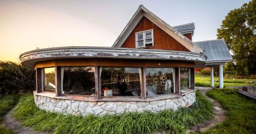
[[[223,39],[205,40],[195,42],[198,46],[205,49],[204,55],[207,56],[205,63],[218,63],[233,61],[228,50],[227,44]]]

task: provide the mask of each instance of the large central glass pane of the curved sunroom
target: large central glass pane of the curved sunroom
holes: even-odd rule
[[[101,67],[101,96],[140,96],[141,68]]]

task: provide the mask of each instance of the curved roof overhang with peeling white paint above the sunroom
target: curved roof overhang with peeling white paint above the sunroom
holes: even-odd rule
[[[122,58],[140,60],[175,60],[204,64],[206,56],[193,52],[130,49],[113,47],[56,47],[37,49],[20,55],[21,64],[34,68],[37,62],[61,58]]]

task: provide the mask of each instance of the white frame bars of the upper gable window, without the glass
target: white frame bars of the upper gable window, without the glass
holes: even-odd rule
[[[147,48],[147,47],[152,47],[152,46],[146,46],[146,44],[150,44],[150,43],[146,43],[146,32],[151,32],[151,38],[149,39],[152,39],[151,43],[152,43],[152,46],[154,46],[154,29],[150,29],[150,30],[145,30],[145,31],[139,31],[139,32],[135,32],[135,48]],[[143,46],[139,47],[138,46],[138,41],[141,41],[141,40],[138,40],[138,34],[143,34]]]

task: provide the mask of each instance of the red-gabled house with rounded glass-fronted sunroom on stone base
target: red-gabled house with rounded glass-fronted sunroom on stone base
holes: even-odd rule
[[[44,110],[82,115],[177,110],[195,102],[195,67],[218,65],[221,73],[232,60],[224,40],[194,43],[194,29],[194,23],[171,27],[140,5],[112,47],[37,49],[20,60],[35,69],[35,103]],[[223,72],[220,81],[223,86]]]

